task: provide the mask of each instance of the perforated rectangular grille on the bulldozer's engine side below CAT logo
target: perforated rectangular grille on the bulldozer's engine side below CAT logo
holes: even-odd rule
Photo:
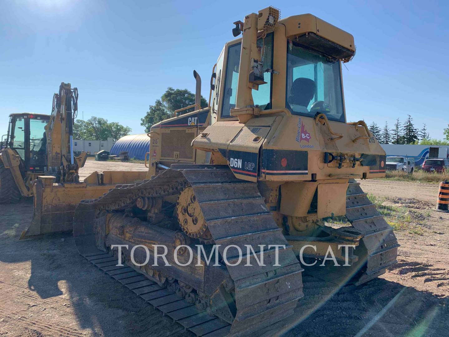
[[[190,131],[190,130],[189,130]],[[179,159],[194,159],[194,148],[190,146],[195,138],[195,132],[186,130],[170,130],[162,133],[161,158],[174,159],[174,152],[179,152]]]

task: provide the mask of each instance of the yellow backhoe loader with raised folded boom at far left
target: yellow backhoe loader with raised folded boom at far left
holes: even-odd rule
[[[0,203],[14,203],[33,195],[38,176],[52,175],[55,182],[79,182],[86,152],[73,152],[73,122],[78,110],[78,89],[61,83],[53,95],[51,115],[11,114],[7,146],[0,153]]]

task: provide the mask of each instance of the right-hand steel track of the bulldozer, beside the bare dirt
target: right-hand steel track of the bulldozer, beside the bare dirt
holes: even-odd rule
[[[346,217],[354,228],[364,233],[361,241],[368,253],[366,268],[355,283],[359,285],[382,275],[397,262],[399,244],[392,227],[354,179],[349,180],[346,191]]]

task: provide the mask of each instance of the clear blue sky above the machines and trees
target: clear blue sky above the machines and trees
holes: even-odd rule
[[[447,1],[2,1],[0,133],[14,112],[49,114],[62,81],[79,89],[79,118],[142,133],[140,119],[172,86],[208,98],[211,68],[232,22],[268,5],[312,13],[354,35],[343,67],[348,121],[390,126],[408,114],[433,138],[449,123]]]

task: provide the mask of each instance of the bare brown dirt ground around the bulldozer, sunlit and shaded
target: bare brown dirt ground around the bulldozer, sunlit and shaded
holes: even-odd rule
[[[88,161],[82,174],[104,168],[145,170],[142,164]],[[409,219],[396,231],[398,264],[360,287],[304,279],[304,298],[283,322],[290,330],[282,332],[447,336],[449,214],[432,211],[437,187],[367,181],[362,188],[388,197],[384,203]],[[80,257],[70,234],[18,241],[31,216],[30,200],[0,206],[0,336],[193,336]],[[419,231],[410,230],[415,227]]]

